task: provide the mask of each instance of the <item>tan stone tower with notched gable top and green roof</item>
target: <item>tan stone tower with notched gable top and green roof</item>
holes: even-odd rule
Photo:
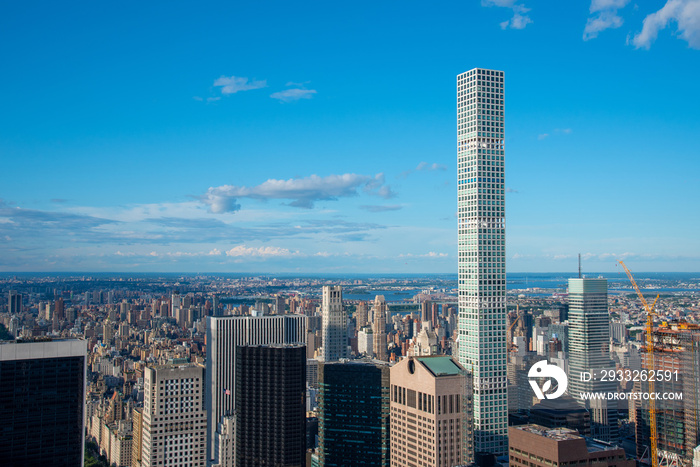
[[[448,356],[408,357],[391,368],[392,467],[473,460],[467,374]]]

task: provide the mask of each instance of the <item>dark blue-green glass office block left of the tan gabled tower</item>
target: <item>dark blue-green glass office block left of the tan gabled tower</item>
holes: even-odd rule
[[[389,365],[319,367],[319,465],[389,467]]]

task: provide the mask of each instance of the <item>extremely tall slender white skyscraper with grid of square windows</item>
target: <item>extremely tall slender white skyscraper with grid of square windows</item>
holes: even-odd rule
[[[508,450],[503,72],[457,76],[459,363],[474,381],[477,452]]]

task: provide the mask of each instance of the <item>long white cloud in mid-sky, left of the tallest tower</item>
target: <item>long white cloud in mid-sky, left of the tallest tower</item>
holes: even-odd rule
[[[384,174],[380,173],[374,177],[343,174],[327,177],[311,175],[288,180],[269,179],[253,187],[222,185],[209,188],[199,199],[214,213],[240,210],[239,198],[287,199],[292,200],[290,206],[310,209],[316,201],[335,201],[338,198],[358,196],[358,189],[382,198],[395,196],[391,188],[384,184]]]

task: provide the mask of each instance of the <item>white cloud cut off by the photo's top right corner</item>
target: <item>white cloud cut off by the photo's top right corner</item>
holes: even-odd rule
[[[700,1],[668,0],[659,11],[644,18],[642,31],[634,36],[635,47],[648,49],[656,40],[659,31],[669,23],[677,24],[681,38],[694,49],[700,49]]]

